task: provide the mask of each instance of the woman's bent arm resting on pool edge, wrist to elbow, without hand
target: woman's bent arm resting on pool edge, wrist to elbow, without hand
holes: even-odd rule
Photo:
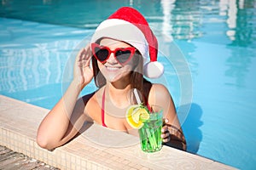
[[[66,94],[44,117],[38,127],[37,142],[39,146],[51,150],[67,143],[78,133],[86,120],[82,101],[81,99],[77,101],[79,93],[79,87],[72,82],[67,88]]]

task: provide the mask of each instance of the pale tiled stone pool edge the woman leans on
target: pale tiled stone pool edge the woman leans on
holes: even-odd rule
[[[92,124],[53,151],[36,143],[39,123],[49,110],[0,95],[0,145],[61,169],[235,169],[163,146],[154,154],[139,148],[137,137]]]

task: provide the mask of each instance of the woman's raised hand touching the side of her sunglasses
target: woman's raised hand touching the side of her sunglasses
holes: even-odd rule
[[[79,51],[73,67],[73,80],[81,86],[81,90],[90,83],[93,77],[92,68],[90,68],[91,59],[90,44]]]

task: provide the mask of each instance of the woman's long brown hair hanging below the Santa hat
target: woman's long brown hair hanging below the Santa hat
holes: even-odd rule
[[[99,43],[100,41],[97,41]],[[148,82],[143,77],[143,56],[136,51],[133,57],[136,57],[137,60],[137,66],[134,69],[134,71],[131,71],[131,89],[137,88],[137,91],[139,92],[140,99],[143,101],[143,105],[148,104],[148,94],[149,90],[151,88],[151,83]],[[106,78],[102,75],[102,72],[99,69],[99,66],[97,64],[97,60],[95,57],[91,58],[92,61],[92,67],[93,67],[93,76],[94,81],[96,83],[97,88],[102,88],[104,85],[106,85]],[[136,99],[133,93],[131,93],[131,102],[133,104],[136,103]]]

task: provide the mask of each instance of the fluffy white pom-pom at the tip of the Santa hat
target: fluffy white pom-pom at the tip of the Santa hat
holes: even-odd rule
[[[144,65],[143,74],[148,78],[158,78],[164,73],[164,65],[158,61]]]

